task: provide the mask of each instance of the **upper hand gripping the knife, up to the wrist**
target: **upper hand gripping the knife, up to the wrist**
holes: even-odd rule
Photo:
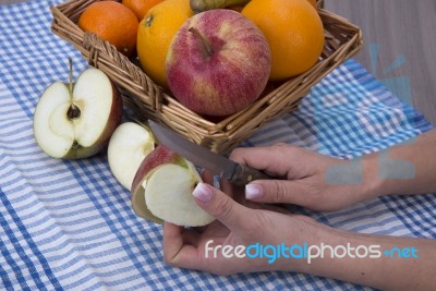
[[[281,179],[247,184],[245,197],[253,202],[334,211],[374,197],[378,181],[373,179],[374,169],[367,167],[371,158],[341,160],[284,144],[237,148],[230,158]]]

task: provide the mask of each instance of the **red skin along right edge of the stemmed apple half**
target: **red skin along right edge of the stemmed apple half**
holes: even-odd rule
[[[76,147],[72,147],[63,157],[64,159],[83,159],[98,154],[108,145],[113,131],[120,125],[123,113],[123,101],[116,84],[111,80],[109,80],[109,82],[112,86],[112,107],[110,109],[108,123],[101,132],[100,137],[98,137],[93,146],[83,147],[77,145]]]

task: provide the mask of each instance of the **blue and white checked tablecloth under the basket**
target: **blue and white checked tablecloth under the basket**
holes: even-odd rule
[[[56,160],[35,143],[32,119],[44,89],[86,68],[50,33],[49,5],[0,7],[0,289],[7,290],[366,290],[292,272],[219,277],[166,266],[161,227],[137,218],[105,154]],[[431,129],[359,63],[347,61],[299,109],[244,146],[291,143],[359,157]],[[301,209],[326,225],[364,233],[436,238],[434,195],[384,197],[332,214]]]

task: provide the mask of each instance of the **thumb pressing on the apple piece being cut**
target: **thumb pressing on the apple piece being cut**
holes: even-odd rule
[[[198,183],[192,195],[199,207],[230,230],[241,229],[245,217],[249,217],[249,208],[209,184]]]

